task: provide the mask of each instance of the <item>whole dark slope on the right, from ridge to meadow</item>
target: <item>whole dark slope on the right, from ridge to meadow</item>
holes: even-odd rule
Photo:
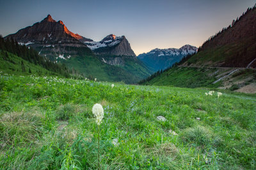
[[[218,87],[256,93],[256,5],[176,66],[140,81],[145,85]]]

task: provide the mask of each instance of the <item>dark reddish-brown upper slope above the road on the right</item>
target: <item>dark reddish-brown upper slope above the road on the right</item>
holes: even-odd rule
[[[256,7],[209,38],[183,66],[246,67],[256,59]],[[256,62],[251,64],[256,67]]]

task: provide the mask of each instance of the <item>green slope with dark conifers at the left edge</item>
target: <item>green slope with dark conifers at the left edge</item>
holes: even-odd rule
[[[76,70],[70,71],[65,64],[57,64],[51,60],[38,55],[38,53],[19,45],[13,39],[4,40],[0,35],[0,70],[12,74],[49,74],[61,75],[66,78],[82,77]]]

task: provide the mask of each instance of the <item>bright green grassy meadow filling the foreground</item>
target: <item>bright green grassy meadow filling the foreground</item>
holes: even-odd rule
[[[1,74],[0,167],[97,169],[100,103],[102,169],[255,169],[256,96],[209,90]]]

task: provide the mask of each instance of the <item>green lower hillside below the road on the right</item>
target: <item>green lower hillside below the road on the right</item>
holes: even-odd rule
[[[217,82],[214,83],[214,81]],[[140,81],[140,84],[188,88],[214,87],[256,93],[256,70],[232,67],[175,66],[163,73],[153,74]]]

